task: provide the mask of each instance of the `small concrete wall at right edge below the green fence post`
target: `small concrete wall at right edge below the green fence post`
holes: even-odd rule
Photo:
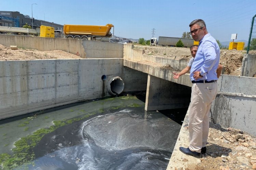
[[[256,54],[244,54],[241,68],[241,75],[255,77],[256,75]]]

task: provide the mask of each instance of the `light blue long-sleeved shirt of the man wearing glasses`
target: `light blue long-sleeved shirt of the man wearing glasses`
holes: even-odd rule
[[[193,77],[195,71],[200,71],[202,78],[198,80],[218,80],[216,70],[219,65],[219,46],[210,33],[204,35],[200,40],[196,57],[190,69],[191,81],[196,81]]]

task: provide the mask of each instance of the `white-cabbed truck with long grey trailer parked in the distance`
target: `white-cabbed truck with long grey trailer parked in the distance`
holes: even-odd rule
[[[184,47],[191,47],[194,44],[194,39],[192,38],[177,38],[177,37],[158,37],[158,42],[156,40],[156,38],[151,38],[151,46],[176,46],[177,42],[181,40],[182,43],[184,44]],[[195,41],[196,42],[196,41]]]

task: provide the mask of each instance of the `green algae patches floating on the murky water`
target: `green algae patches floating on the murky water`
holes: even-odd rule
[[[122,97],[118,97],[118,99],[128,100],[128,99],[136,99],[136,97],[122,96]],[[101,100],[100,102],[99,101],[97,101],[97,102],[101,105],[104,105],[106,101],[114,101],[114,100],[117,100],[117,99],[116,98],[108,98],[108,99]],[[92,103],[97,103],[97,102],[92,102]],[[119,104],[118,106],[110,107],[109,109],[116,110],[116,109],[124,108],[127,106],[128,107],[140,107],[141,105],[135,104],[135,103],[132,103],[132,104],[126,103],[126,104]],[[69,111],[74,112],[73,109],[70,109]],[[79,112],[80,113],[77,113],[77,115],[86,113],[86,111],[84,109],[80,109]],[[51,133],[62,126],[71,124],[76,121],[86,119],[86,118],[91,117],[97,113],[103,113],[103,112],[104,112],[104,109],[101,108],[101,109],[98,109],[96,112],[92,112],[89,114],[87,113],[85,115],[77,116],[77,117],[69,119],[69,120],[67,120],[67,119],[54,120],[53,121],[54,125],[50,126],[49,128],[39,129],[39,130],[33,132],[31,135],[22,137],[20,140],[18,140],[14,143],[15,148],[12,149],[13,155],[9,155],[7,153],[0,154],[0,169],[1,168],[14,169],[20,165],[31,164],[31,162],[33,162],[33,159],[35,159],[35,155],[32,152],[33,148],[42,140],[42,138],[46,134]],[[19,124],[19,126],[20,125],[25,126],[26,124],[29,123],[29,122],[28,123],[27,122],[26,123],[22,122]],[[35,125],[35,126],[39,126],[39,125]],[[25,128],[25,129],[28,130],[28,128]]]

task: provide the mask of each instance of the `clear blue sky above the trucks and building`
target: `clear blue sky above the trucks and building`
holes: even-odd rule
[[[18,11],[58,24],[115,26],[114,35],[125,38],[181,37],[189,23],[203,19],[215,39],[248,40],[256,0],[1,0],[0,11]],[[111,31],[113,33],[113,30]]]

